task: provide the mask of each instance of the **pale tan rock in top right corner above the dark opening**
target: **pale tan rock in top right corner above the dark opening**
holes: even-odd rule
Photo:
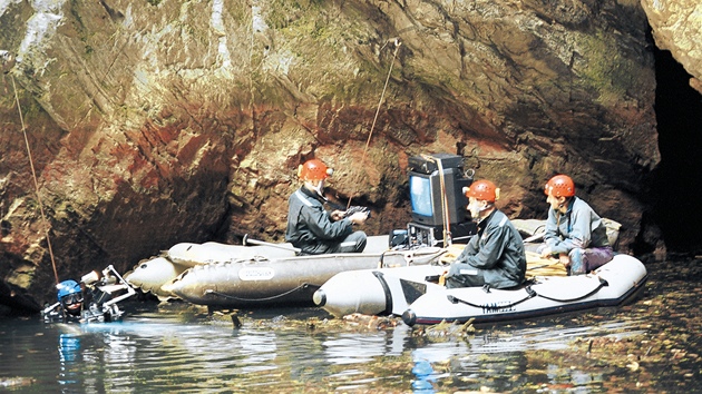
[[[641,0],[655,45],[670,50],[692,76],[690,86],[702,93],[702,2]]]

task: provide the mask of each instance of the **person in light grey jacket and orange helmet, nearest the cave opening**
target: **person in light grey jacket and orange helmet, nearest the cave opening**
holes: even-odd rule
[[[612,260],[607,230],[602,218],[587,203],[575,196],[575,183],[567,175],[556,175],[544,188],[550,205],[542,257],[558,257],[568,275],[582,275]]]

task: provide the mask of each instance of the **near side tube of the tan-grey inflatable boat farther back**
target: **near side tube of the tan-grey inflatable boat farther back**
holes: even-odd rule
[[[371,267],[429,264],[443,250],[426,247],[383,253],[343,253],[282,258],[247,258],[196,265],[166,292],[197,305],[231,308],[259,305],[313,305],[312,295],[335,274]]]

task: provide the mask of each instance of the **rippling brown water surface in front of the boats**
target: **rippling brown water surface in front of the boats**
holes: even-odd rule
[[[314,309],[242,315],[238,329],[204,314],[155,306],[130,311],[123,323],[0,319],[0,357],[8,361],[0,368],[0,390],[690,392],[702,383],[702,351],[693,335],[701,293],[688,282],[694,275],[651,279],[650,294],[632,306],[478,326],[466,336],[419,335],[404,325],[376,331],[318,323],[312,329],[304,322],[319,317]],[[617,347],[635,336],[633,347]],[[677,363],[676,357],[686,358]]]

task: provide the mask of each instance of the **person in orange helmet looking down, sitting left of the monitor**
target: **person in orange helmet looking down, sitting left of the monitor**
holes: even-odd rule
[[[367,236],[362,230],[353,230],[362,225],[368,213],[324,209],[324,183],[333,170],[322,160],[311,159],[298,168],[298,177],[303,185],[287,199],[287,228],[285,240],[300,248],[301,255],[329,253],[360,253],[365,248]]]

